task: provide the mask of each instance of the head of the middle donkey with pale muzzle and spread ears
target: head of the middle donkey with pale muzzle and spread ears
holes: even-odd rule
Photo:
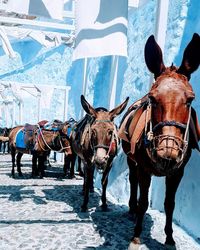
[[[111,111],[107,111],[105,108],[94,109],[84,96],[81,96],[83,109],[94,119],[91,124],[90,145],[93,150],[93,163],[100,171],[105,169],[108,161],[112,161],[117,153],[118,137],[113,120],[126,108],[128,99]]]

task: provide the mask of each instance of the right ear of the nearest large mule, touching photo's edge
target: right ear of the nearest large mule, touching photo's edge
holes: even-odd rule
[[[178,73],[185,75],[188,80],[191,74],[198,69],[200,64],[200,36],[194,33],[192,40],[185,48],[181,66],[177,70]]]

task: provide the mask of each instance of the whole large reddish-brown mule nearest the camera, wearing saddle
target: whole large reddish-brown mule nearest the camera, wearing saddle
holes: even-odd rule
[[[165,244],[175,245],[172,236],[175,194],[192,148],[198,149],[200,138],[196,113],[191,107],[195,95],[189,83],[190,75],[200,63],[200,37],[194,34],[179,68],[166,68],[162,51],[154,37],[150,36],[145,46],[145,61],[155,76],[155,83],[148,95],[137,102],[137,106],[129,108],[129,114],[134,108],[135,111],[128,119],[128,116],[124,117],[120,132],[124,128],[125,135],[119,134],[123,137],[122,147],[128,156],[130,169],[130,212],[137,215],[132,244],[140,243],[151,175],[156,175],[166,176]]]

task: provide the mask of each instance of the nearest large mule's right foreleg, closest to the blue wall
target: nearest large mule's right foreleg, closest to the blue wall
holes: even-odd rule
[[[184,168],[181,168],[175,175],[166,177],[166,195],[165,195],[165,214],[166,214],[166,224],[165,224],[165,233],[166,241],[165,244],[174,246],[175,241],[173,239],[173,229],[172,229],[172,219],[173,211],[175,207],[175,195],[179,183],[183,177]]]

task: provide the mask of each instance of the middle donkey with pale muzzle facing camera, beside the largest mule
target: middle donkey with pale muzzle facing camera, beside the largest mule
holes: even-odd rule
[[[84,201],[82,211],[87,210],[89,189],[93,185],[93,174],[102,173],[102,209],[106,210],[106,186],[112,160],[117,154],[118,137],[114,118],[123,112],[128,98],[110,112],[105,108],[94,109],[81,96],[81,104],[86,116],[77,124],[72,134],[72,147],[84,164]]]

